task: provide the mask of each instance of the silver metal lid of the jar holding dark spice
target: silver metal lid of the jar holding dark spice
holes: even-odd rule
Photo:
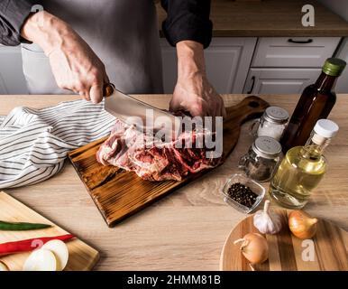
[[[259,136],[252,144],[255,154],[266,159],[273,159],[281,153],[281,145],[270,136]]]

